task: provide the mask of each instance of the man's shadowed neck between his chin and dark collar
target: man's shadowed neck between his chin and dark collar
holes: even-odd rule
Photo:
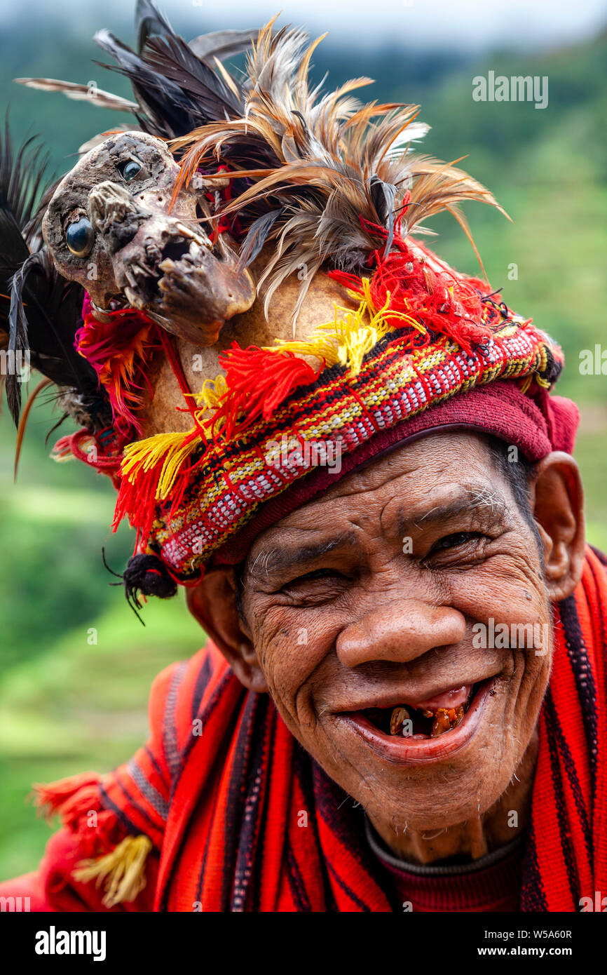
[[[369,815],[376,832],[403,861],[431,864],[452,856],[473,860],[511,842],[526,829],[531,810],[531,791],[538,757],[538,732],[535,730],[527,750],[506,791],[481,816],[441,830],[396,832],[389,820]],[[516,815],[513,815],[515,813]]]

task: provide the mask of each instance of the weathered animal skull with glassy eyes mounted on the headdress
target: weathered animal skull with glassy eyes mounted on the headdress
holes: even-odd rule
[[[57,271],[86,288],[98,317],[132,306],[209,346],[224,322],[250,308],[255,289],[225,235],[213,245],[202,229],[209,184],[183,187],[169,213],[178,172],[160,139],[109,137],[61,180],[43,235]]]

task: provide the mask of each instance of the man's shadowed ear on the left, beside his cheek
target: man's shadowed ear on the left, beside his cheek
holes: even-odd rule
[[[260,694],[267,692],[247,625],[238,610],[234,568],[211,568],[198,586],[186,592],[190,612],[219,647],[239,681]]]

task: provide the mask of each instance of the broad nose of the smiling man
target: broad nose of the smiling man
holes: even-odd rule
[[[451,606],[399,600],[367,613],[340,633],[337,656],[346,667],[373,660],[403,663],[436,646],[459,643],[466,619]]]

